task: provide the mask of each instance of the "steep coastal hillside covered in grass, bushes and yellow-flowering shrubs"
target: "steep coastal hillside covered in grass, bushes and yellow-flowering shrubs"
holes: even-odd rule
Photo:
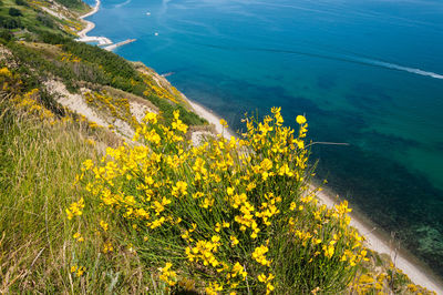
[[[0,7],[0,293],[430,293],[318,204],[303,116],[196,145],[183,95],[58,3]]]

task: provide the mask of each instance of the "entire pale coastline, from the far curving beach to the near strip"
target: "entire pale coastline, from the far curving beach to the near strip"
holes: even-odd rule
[[[87,37],[87,32],[95,28],[95,23],[84,20],[94,13],[96,13],[100,9],[101,1],[96,0],[96,4],[93,10],[87,12],[86,14],[80,17],[83,21],[86,22],[86,28],[80,31],[79,41],[83,42],[99,42],[99,44],[103,45],[112,45],[113,42],[105,37]],[[103,42],[103,43],[101,43]],[[109,42],[109,43],[106,43]],[[188,102],[190,108],[200,115],[206,119],[209,124],[215,126],[215,131],[218,134],[223,134],[227,140],[230,136],[236,136],[235,132],[229,129],[224,128],[220,124],[222,116],[215,114],[213,111],[204,108],[203,105],[189,100],[185,96],[185,100]],[[311,189],[315,186],[311,185]],[[332,207],[334,204],[338,204],[341,200],[334,197],[334,193],[331,190],[326,189],[324,191],[318,192],[317,196],[322,204],[326,204],[328,207]],[[392,238],[383,233],[382,230],[377,228],[371,224],[368,217],[365,217],[363,212],[353,211],[351,214],[351,226],[356,227],[362,235],[364,235],[367,240],[368,248],[375,251],[378,253],[388,254],[393,261],[394,265],[402,269],[404,274],[406,274],[410,279],[418,285],[426,287],[430,291],[436,292],[436,294],[443,294],[443,283],[432,274],[432,271],[427,269],[427,267],[419,261],[413,254],[408,253],[405,250],[394,251],[394,247],[391,246]]]

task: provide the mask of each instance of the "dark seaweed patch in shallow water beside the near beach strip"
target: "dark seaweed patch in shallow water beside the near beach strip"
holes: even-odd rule
[[[442,191],[420,173],[357,146],[315,146],[312,151],[312,157],[320,159],[320,179],[328,179],[332,190],[375,224],[398,233],[404,247],[443,275]]]

